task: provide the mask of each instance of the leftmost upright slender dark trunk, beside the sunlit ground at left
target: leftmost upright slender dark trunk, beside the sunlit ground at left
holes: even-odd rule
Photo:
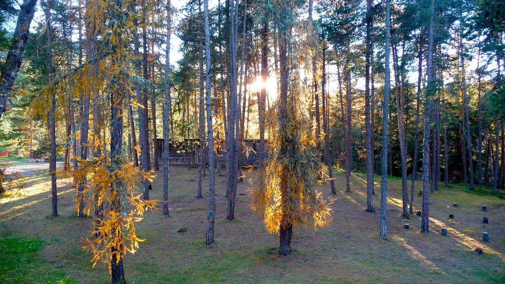
[[[58,192],[56,186],[56,90],[53,86],[54,67],[53,67],[53,27],[51,24],[51,2],[46,2],[45,24],[47,37],[47,74],[49,75],[49,90],[51,92],[51,109],[49,109],[49,141],[51,142],[51,155],[49,155],[49,172],[51,173],[51,196],[53,216],[58,216]],[[1,114],[1,113],[0,113]]]

